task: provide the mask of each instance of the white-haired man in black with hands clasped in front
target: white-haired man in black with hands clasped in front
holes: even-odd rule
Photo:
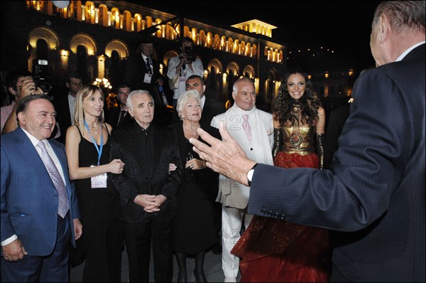
[[[130,282],[149,281],[151,242],[155,282],[171,282],[171,233],[182,173],[178,137],[152,122],[154,101],[146,90],[131,92],[127,108],[135,122],[114,129],[111,136],[111,160],[121,159],[126,167],[111,180],[121,196]],[[177,169],[169,173],[170,163]]]

